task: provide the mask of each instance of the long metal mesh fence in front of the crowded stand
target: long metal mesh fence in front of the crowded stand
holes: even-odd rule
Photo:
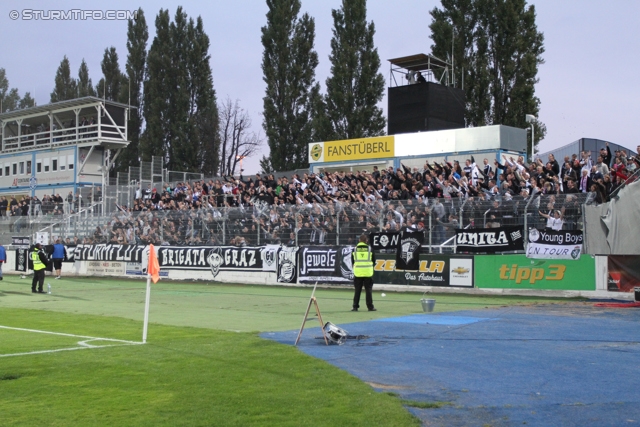
[[[367,201],[212,206],[200,209],[112,212],[97,206],[68,215],[64,221],[36,229],[76,243],[155,245],[355,245],[362,233],[424,232],[430,252],[453,252],[458,228],[523,226],[544,228],[547,216],[560,211],[563,228],[583,229],[583,207],[592,193],[537,194],[532,197],[482,197],[427,200]],[[40,221],[40,225],[43,222]],[[525,233],[526,235],[526,233]]]

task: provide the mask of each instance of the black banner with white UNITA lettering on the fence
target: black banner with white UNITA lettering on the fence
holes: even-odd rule
[[[496,253],[524,249],[522,227],[456,230],[457,252]]]

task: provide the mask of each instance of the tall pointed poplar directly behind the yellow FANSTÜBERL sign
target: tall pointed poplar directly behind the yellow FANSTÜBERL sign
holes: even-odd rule
[[[367,23],[367,2],[343,0],[342,7],[331,13],[331,76],[320,107],[324,114],[317,116],[318,139],[383,135],[386,120],[377,104],[384,96],[385,81],[373,44],[375,27],[373,22]]]

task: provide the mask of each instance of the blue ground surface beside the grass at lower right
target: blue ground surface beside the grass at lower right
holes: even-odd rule
[[[638,325],[633,309],[511,307],[339,325],[359,338],[342,346],[305,329],[298,347],[378,391],[450,403],[408,408],[426,425],[617,427],[640,425]]]

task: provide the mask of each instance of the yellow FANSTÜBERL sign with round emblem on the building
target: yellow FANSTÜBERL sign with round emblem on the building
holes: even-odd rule
[[[383,159],[394,156],[395,140],[393,135],[309,144],[309,163]]]

